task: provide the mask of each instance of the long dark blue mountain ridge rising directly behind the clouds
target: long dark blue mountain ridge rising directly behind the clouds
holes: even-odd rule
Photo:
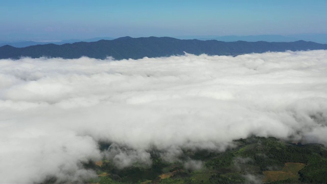
[[[115,59],[139,59],[143,57],[166,57],[183,55],[184,52],[200,55],[231,55],[247,53],[327,50],[327,44],[310,41],[294,42],[224,42],[217,40],[181,40],[171,37],[121,37],[113,40],[99,40],[95,42],[75,42],[57,44],[33,45],[25,48],[14,48],[9,45],[0,47],[0,59],[20,57],[61,57],[104,59],[112,56]]]

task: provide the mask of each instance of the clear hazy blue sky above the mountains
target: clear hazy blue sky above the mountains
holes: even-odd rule
[[[0,40],[325,34],[325,0],[0,0]]]

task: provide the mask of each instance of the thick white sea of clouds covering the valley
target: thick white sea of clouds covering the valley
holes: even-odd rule
[[[0,60],[0,183],[81,181],[88,160],[151,166],[153,148],[174,162],[251,135],[327,146],[327,51]]]

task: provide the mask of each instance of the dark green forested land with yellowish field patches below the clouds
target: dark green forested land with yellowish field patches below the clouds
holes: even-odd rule
[[[327,149],[318,144],[293,144],[273,137],[236,140],[225,152],[183,150],[181,162],[168,163],[155,150],[151,168],[117,169],[110,160],[87,163],[98,178],[85,183],[327,183]],[[108,145],[103,146],[105,149]],[[184,168],[187,160],[201,160],[200,170]],[[54,183],[53,178],[46,183]]]

